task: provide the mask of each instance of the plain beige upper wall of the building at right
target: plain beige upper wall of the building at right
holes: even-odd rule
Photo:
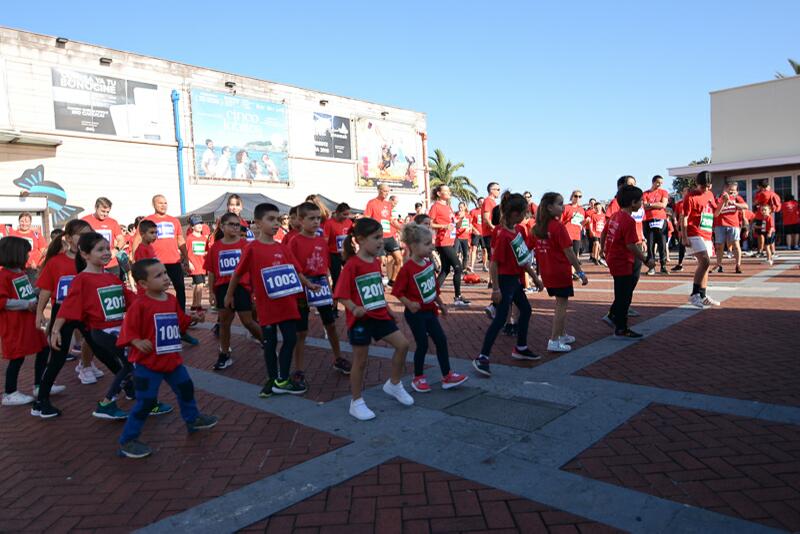
[[[711,161],[800,154],[800,76],[711,93]]]

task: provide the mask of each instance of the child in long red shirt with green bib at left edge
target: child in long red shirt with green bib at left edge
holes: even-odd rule
[[[17,390],[17,378],[26,356],[36,354],[34,363],[34,390],[47,365],[47,340],[36,326],[36,294],[25,274],[31,247],[21,237],[0,239],[0,340],[6,369],[3,406],[21,406],[34,398]],[[63,389],[63,388],[62,388]]]

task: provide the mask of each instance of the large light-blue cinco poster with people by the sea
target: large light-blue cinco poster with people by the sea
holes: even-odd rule
[[[289,183],[285,105],[193,89],[192,130],[198,178]]]

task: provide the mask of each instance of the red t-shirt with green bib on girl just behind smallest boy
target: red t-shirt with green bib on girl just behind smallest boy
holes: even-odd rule
[[[90,330],[103,330],[122,324],[125,308],[136,300],[136,294],[110,273],[78,273],[57,317],[79,321]],[[62,340],[69,343],[69,340]]]

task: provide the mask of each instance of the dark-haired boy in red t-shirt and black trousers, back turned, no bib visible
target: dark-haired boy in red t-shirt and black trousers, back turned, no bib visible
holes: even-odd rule
[[[614,336],[636,339],[642,334],[628,328],[628,309],[636,288],[634,275],[635,259],[647,264],[648,269],[655,266],[653,255],[646,257],[642,252],[641,240],[636,232],[636,221],[631,215],[642,207],[642,190],[633,185],[623,186],[617,193],[619,211],[608,221],[606,231],[606,262],[614,277],[614,302],[604,321],[613,324]]]

